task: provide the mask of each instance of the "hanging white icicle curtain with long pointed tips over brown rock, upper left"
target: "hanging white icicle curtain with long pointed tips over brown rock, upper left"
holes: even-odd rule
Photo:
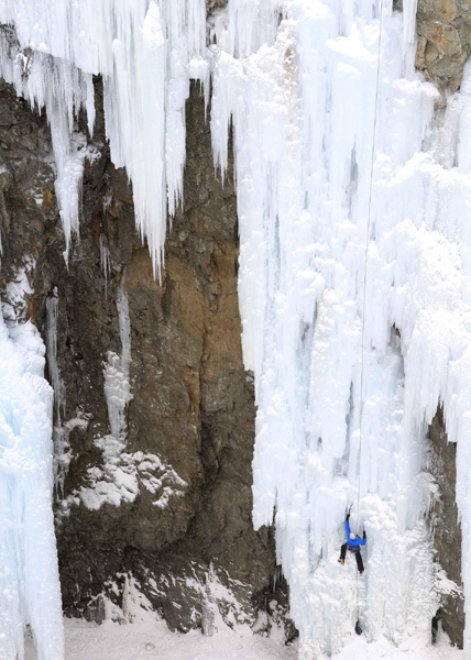
[[[101,74],[111,158],[132,182],[156,273],[167,201],[173,213],[182,198],[189,78],[208,81],[205,0],[6,0],[0,23],[14,29],[1,42],[0,75],[45,106],[51,123],[66,256],[78,232],[86,157],[74,120],[84,108],[92,135],[92,75]]]

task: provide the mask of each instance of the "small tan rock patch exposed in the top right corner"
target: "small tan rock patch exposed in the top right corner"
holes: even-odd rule
[[[442,95],[459,89],[470,51],[470,0],[418,0],[416,67]]]

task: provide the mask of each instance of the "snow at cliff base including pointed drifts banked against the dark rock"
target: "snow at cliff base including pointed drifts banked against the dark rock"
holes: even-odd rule
[[[190,581],[191,582],[191,581]],[[193,586],[193,585],[190,585]],[[201,588],[201,584],[195,584]],[[250,626],[245,617],[237,617],[237,600],[223,587],[215,575],[208,574],[206,584],[206,619],[210,617],[210,627],[190,630],[182,635],[172,632],[158,615],[152,610],[151,603],[140,592],[135,581],[125,578],[122,607],[103,600],[105,622],[90,624],[83,619],[64,619],[65,660],[296,660],[297,641],[285,644],[282,619],[272,619],[269,629],[259,631],[258,624]],[[233,615],[223,618],[220,604],[233,604]],[[231,607],[227,608],[230,612]],[[205,613],[204,613],[205,618]],[[239,622],[239,623],[238,623]],[[208,620],[206,622],[208,623]],[[262,626],[263,628],[263,626]],[[338,656],[319,656],[319,660],[329,657],[338,660],[362,658],[377,660],[463,660],[463,652],[453,648],[439,627],[436,644],[410,635],[399,646],[384,637],[371,642],[366,635],[358,637],[352,629],[344,636],[344,649]],[[39,660],[33,644],[26,644],[25,660]]]

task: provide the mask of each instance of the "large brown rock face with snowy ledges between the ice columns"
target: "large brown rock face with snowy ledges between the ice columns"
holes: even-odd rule
[[[275,574],[273,532],[251,521],[255,408],[241,355],[232,173],[223,186],[215,177],[196,88],[187,130],[185,204],[161,282],[134,229],[125,174],[110,163],[100,111],[67,266],[46,120],[0,87],[2,299],[6,314],[32,318],[43,333],[58,395],[65,612],[99,619],[100,594],[125,609],[132,575],[180,630],[208,627],[215,609],[253,622]],[[11,285],[22,270],[34,289],[25,304]],[[113,438],[105,386],[127,380],[127,439]]]

